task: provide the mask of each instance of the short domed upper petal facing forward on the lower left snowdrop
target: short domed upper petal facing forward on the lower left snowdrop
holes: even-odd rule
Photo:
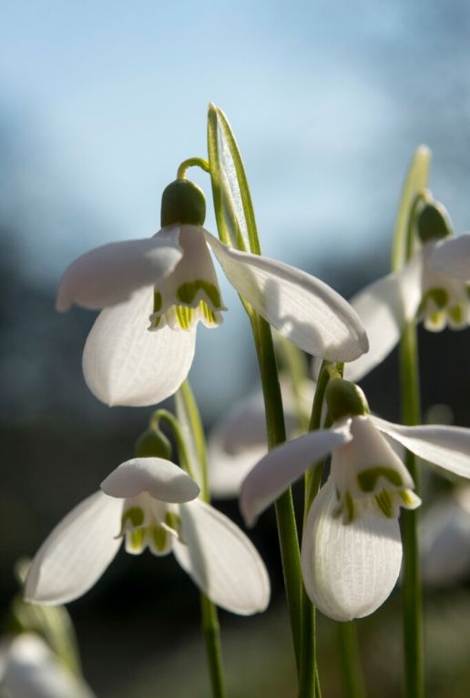
[[[100,487],[110,497],[128,499],[148,492],[155,500],[178,504],[194,500],[199,494],[199,485],[188,473],[163,458],[126,460],[101,482]]]

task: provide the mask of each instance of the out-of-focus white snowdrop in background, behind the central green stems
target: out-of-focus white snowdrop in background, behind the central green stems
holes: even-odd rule
[[[312,408],[314,383],[301,386],[302,409]],[[298,405],[288,380],[282,381],[286,428],[290,438],[299,433]],[[266,415],[261,389],[237,402],[209,433],[209,486],[214,497],[238,497],[241,483],[268,451]]]

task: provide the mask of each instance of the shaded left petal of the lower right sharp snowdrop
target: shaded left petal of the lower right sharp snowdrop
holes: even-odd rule
[[[351,420],[337,422],[332,429],[311,431],[270,450],[241,487],[240,510],[247,526],[318,460],[352,440],[350,424]]]

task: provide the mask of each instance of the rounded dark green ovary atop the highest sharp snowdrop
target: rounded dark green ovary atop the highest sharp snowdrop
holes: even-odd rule
[[[161,227],[175,223],[202,226],[206,218],[204,192],[189,179],[175,179],[161,196]]]

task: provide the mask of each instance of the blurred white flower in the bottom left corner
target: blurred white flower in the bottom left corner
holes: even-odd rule
[[[5,639],[0,647],[0,693],[5,698],[94,698],[95,695],[32,632]]]

